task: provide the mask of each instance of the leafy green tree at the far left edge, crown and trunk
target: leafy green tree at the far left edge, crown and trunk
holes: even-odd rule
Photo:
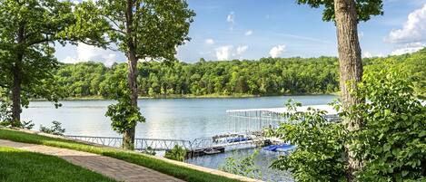
[[[57,0],[0,0],[0,85],[12,98],[13,126],[21,125],[27,96],[57,101],[52,86],[54,43],[69,41],[72,3]]]

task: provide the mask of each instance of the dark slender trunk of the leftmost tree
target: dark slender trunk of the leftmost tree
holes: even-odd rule
[[[16,41],[19,45],[19,50],[16,54],[15,65],[13,65],[12,74],[14,77],[14,83],[12,85],[12,126],[21,127],[21,92],[22,92],[22,76],[21,67],[24,59],[24,50],[20,47],[21,43],[24,42],[25,25],[19,26]]]

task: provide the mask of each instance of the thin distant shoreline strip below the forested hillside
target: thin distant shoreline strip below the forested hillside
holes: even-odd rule
[[[274,97],[274,96],[315,96],[315,95],[338,95],[334,93],[297,93],[297,94],[271,94],[271,95],[251,95],[251,94],[233,94],[233,95],[155,95],[155,96],[140,96],[138,99],[239,99],[239,98],[258,98],[258,97]],[[64,98],[59,101],[108,101],[111,99],[104,98],[102,96],[85,96],[85,97],[70,97]],[[47,101],[45,99],[31,99],[30,101]]]

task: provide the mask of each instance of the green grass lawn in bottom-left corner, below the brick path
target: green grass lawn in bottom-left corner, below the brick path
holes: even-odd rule
[[[0,181],[113,182],[115,180],[74,166],[62,158],[0,147]]]

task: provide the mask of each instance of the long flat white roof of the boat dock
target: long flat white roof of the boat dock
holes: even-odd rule
[[[338,112],[332,108],[330,105],[308,105],[308,106],[301,106],[296,107],[296,111],[302,111],[305,112],[308,110],[308,108],[316,109],[316,110],[325,110],[327,111],[327,114],[333,115],[337,114]],[[287,107],[282,108],[262,108],[262,109],[246,109],[246,110],[226,110],[226,112],[250,112],[250,111],[266,111],[266,112],[272,112],[272,113],[293,113],[294,110],[288,110]]]

